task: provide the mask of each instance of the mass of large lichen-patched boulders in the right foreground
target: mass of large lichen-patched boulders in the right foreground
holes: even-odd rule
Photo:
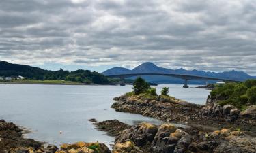
[[[193,131],[193,132],[192,132]],[[195,129],[178,129],[171,124],[155,126],[148,123],[124,130],[116,139],[115,148],[130,146],[134,152],[184,153],[184,152],[256,152],[256,138],[240,131],[222,129],[205,132]]]

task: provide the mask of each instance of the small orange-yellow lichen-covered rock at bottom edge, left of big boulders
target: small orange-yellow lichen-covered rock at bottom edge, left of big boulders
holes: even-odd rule
[[[127,141],[124,143],[116,143],[113,153],[143,153],[134,143]]]

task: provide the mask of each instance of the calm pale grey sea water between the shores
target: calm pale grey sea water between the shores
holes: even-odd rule
[[[169,87],[173,97],[204,104],[208,90],[182,88],[182,85],[160,84]],[[130,92],[132,86],[63,86],[0,84],[0,119],[31,129],[26,137],[59,146],[76,141],[100,141],[111,144],[113,137],[97,131],[90,118],[98,121],[117,119],[127,124],[160,120],[137,114],[115,112],[113,97]],[[62,131],[62,134],[59,133]]]

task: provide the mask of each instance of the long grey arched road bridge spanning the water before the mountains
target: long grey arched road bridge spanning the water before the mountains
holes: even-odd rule
[[[169,76],[184,79],[184,88],[188,88],[188,80],[216,80],[223,82],[241,82],[240,80],[229,80],[224,78],[212,78],[205,76],[197,76],[197,75],[184,75],[184,74],[174,74],[174,73],[128,73],[128,74],[119,74],[119,75],[105,75],[109,78],[130,78],[134,76],[144,76],[144,75],[161,75],[161,76]]]

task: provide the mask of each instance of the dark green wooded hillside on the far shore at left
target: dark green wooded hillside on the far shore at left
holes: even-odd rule
[[[79,69],[76,71],[48,71],[28,65],[16,65],[7,62],[0,62],[0,76],[17,77],[21,75],[26,79],[33,80],[66,80],[88,84],[114,84],[118,80],[109,80],[101,73]]]

